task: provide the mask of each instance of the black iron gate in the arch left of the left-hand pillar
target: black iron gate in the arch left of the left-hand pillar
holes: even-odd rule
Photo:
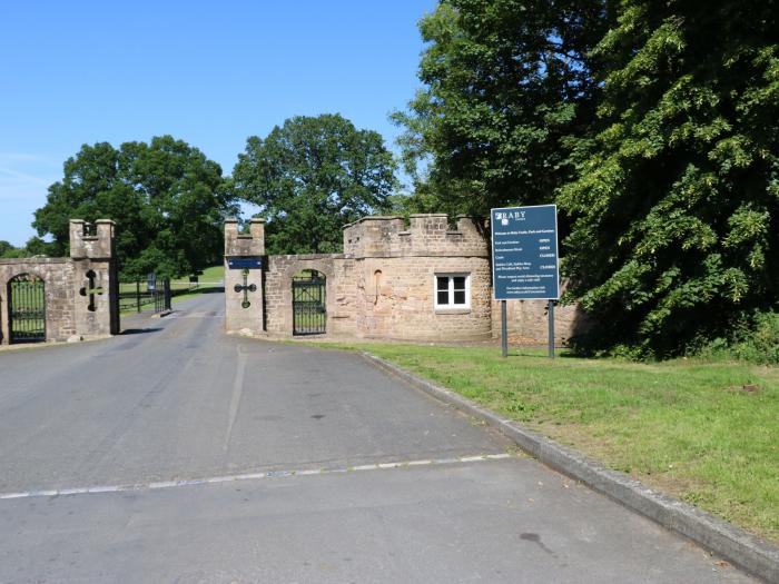
[[[46,340],[46,290],[43,280],[20,274],[8,281],[8,316],[11,343]]]

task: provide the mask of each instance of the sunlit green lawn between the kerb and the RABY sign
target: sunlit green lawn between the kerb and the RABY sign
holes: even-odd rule
[[[317,344],[323,346],[323,344]],[[563,352],[389,344],[367,350],[779,542],[779,369]],[[745,390],[743,387],[748,386]]]

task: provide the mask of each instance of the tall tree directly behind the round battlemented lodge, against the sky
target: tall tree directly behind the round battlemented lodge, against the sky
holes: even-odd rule
[[[443,0],[422,19],[425,83],[393,119],[420,210],[551,202],[594,119],[602,0]]]

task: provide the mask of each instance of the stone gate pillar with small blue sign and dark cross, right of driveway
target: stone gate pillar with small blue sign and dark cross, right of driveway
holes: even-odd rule
[[[263,261],[265,219],[252,219],[249,234],[238,220],[225,221],[225,330],[258,336],[264,333]]]

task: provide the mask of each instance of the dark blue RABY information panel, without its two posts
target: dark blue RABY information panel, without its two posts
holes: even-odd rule
[[[558,207],[492,209],[492,281],[496,300],[556,300]]]

